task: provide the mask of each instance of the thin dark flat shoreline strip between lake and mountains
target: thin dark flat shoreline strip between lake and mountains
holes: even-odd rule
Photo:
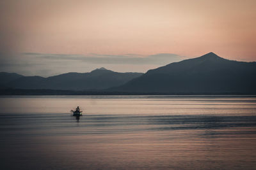
[[[51,89],[0,89],[0,96],[147,96],[147,95],[256,95],[256,92],[106,92]]]

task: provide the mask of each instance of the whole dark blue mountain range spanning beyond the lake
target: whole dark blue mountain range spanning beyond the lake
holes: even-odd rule
[[[256,62],[228,60],[212,52],[150,69],[145,74],[118,73],[100,67],[88,73],[70,72],[48,78],[16,76],[17,79],[1,84],[1,89],[88,90],[130,94],[256,93]]]

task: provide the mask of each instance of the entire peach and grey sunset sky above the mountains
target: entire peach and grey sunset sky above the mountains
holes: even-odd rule
[[[214,52],[256,60],[255,0],[1,0],[0,71],[146,72]]]

